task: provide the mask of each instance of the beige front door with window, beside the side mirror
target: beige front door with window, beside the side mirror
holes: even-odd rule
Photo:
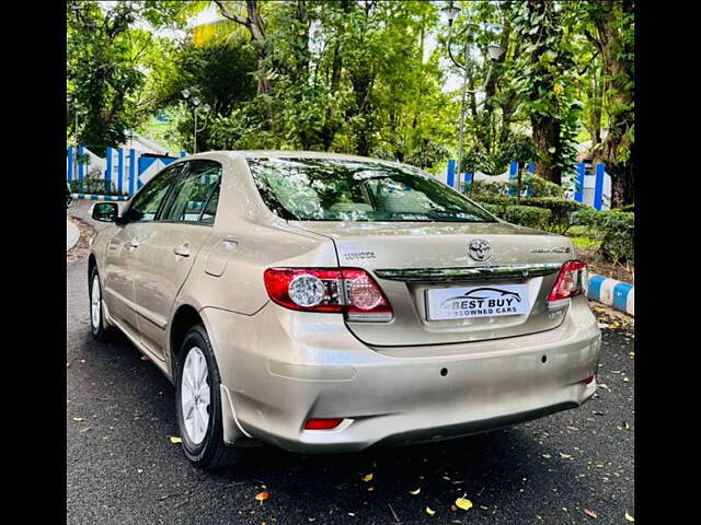
[[[122,327],[136,335],[135,257],[148,235],[147,225],[157,215],[168,189],[180,174],[182,165],[163,170],[149,180],[124,211],[124,221],[110,238],[103,272],[104,295],[110,315]]]

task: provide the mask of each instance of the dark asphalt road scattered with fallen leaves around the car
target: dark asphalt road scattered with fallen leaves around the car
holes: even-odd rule
[[[69,213],[85,219],[87,210],[77,202]],[[391,524],[395,514],[404,524],[561,525],[627,524],[624,513],[634,515],[627,329],[605,329],[599,381],[607,388],[579,409],[468,439],[360,454],[264,447],[211,474],[189,466],[170,443],[177,435],[173,387],[156,366],[126,340],[91,339],[85,259],[68,267],[67,322],[70,524]],[[372,480],[361,481],[369,472]],[[271,494],[263,504],[254,500],[262,490]],[[452,511],[463,494],[473,509]]]

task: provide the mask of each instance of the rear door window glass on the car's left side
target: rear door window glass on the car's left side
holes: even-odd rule
[[[214,161],[186,163],[183,176],[173,185],[160,217],[165,222],[211,224],[217,212],[221,165]]]

